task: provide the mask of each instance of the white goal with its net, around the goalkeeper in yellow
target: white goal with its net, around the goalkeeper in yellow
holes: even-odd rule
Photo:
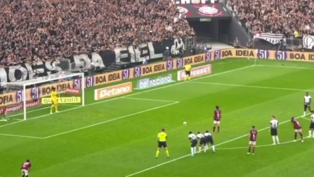
[[[84,73],[65,71],[46,77],[5,83],[5,99],[0,105],[0,120],[26,120],[84,106],[83,83]],[[51,99],[51,91],[54,88],[57,93],[57,105],[53,105]]]

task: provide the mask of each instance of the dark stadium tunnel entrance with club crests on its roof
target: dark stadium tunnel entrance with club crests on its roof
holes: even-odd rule
[[[233,45],[236,37],[241,46],[246,46],[250,38],[222,3],[206,4],[206,6],[184,4],[177,5],[177,8],[195,30],[197,46],[205,43],[209,49],[212,43],[219,42]]]

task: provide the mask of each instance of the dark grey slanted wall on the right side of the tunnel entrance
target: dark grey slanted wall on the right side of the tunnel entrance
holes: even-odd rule
[[[233,44],[233,41],[238,37],[241,46],[246,46],[250,37],[236,18],[231,17],[229,20],[221,20],[220,26],[220,35],[227,35],[228,43]]]

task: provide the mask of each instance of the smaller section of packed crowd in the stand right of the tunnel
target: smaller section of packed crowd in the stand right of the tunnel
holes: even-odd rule
[[[227,5],[253,33],[314,35],[314,0],[230,0]]]

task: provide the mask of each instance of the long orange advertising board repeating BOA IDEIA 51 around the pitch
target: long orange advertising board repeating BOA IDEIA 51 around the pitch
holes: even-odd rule
[[[132,78],[180,69],[183,68],[186,64],[196,65],[225,58],[257,58],[266,60],[314,62],[314,53],[257,49],[223,49],[150,65],[137,66],[134,68],[85,77],[84,84],[85,88],[90,88],[107,83],[114,83]],[[77,78],[62,83],[52,83],[35,88],[29,88],[26,90],[26,100],[31,101],[50,96],[52,87],[57,88],[58,93],[65,93],[67,90],[79,89],[81,84],[81,79]],[[8,106],[19,104],[22,101],[23,90],[0,95],[0,107],[5,105]]]

